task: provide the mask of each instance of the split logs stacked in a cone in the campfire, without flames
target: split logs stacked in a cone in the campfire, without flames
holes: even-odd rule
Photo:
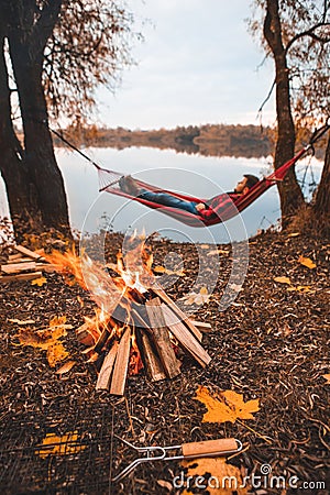
[[[141,294],[139,295],[141,302]],[[91,320],[77,330],[78,340],[87,344],[84,351],[90,362],[99,364],[97,391],[123,395],[132,359],[135,372],[146,370],[153,382],[179,375],[180,351],[205,367],[211,358],[201,345],[202,333],[197,328],[209,327],[190,320],[169,296],[154,286],[143,294],[144,304],[121,301],[112,317],[96,337]],[[122,321],[124,321],[124,324]],[[138,356],[138,364],[136,364]]]

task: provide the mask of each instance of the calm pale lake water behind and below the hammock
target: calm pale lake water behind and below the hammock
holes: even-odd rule
[[[147,147],[122,151],[87,148],[85,153],[105,168],[205,198],[232,190],[244,173],[261,177],[271,170],[271,158],[204,157]],[[251,237],[258,229],[276,224],[279,218],[278,194],[276,187],[272,187],[239,218],[224,226],[193,229],[136,201],[127,201],[108,193],[99,194],[96,168],[78,154],[61,148],[57,150],[57,158],[68,196],[70,223],[78,231],[96,232],[106,228],[127,232],[144,228],[147,234],[158,231],[175,241],[222,243]],[[304,176],[309,161],[300,161],[298,177]],[[307,185],[312,180],[310,168],[306,176]],[[320,168],[321,164],[312,161],[311,169],[316,177],[319,177]],[[8,215],[3,183],[0,184],[0,213]]]

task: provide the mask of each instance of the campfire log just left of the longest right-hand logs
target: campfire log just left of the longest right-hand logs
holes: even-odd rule
[[[151,322],[152,337],[161,362],[168,378],[180,374],[180,362],[176,359],[168,330],[161,308],[161,299],[155,297],[145,302],[145,309]]]

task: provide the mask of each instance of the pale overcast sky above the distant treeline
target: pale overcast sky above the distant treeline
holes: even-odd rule
[[[248,33],[250,0],[128,0],[144,42],[113,96],[98,91],[98,123],[172,129],[258,124],[274,78],[272,61]],[[148,22],[143,23],[144,20]],[[263,124],[275,121],[274,98]]]

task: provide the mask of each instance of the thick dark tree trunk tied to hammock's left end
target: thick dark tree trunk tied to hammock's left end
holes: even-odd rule
[[[34,53],[32,57],[32,52],[26,40],[21,43],[15,36],[10,37],[10,56],[23,120],[24,162],[31,182],[35,185],[35,200],[44,229],[56,229],[69,234],[64,182],[47,128],[47,109],[42,86],[43,56]]]

